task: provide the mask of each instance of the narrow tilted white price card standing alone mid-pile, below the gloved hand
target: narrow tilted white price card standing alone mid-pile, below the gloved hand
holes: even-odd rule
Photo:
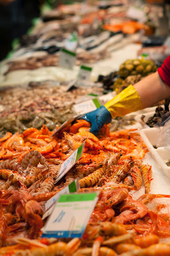
[[[70,169],[75,165],[75,163],[81,158],[83,154],[83,150],[85,147],[85,141],[77,148],[71,156],[69,156],[62,164],[58,172],[57,180],[55,183],[57,183]]]

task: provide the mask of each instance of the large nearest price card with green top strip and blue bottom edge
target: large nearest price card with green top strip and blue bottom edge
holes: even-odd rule
[[[43,228],[42,237],[81,238],[97,200],[97,192],[61,195]]]

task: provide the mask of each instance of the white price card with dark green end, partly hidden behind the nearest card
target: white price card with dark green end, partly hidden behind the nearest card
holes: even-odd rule
[[[51,197],[47,202],[45,203],[45,213],[43,214],[42,220],[47,218],[51,212],[53,211],[53,208],[55,206],[55,203],[61,196],[61,194],[69,194],[69,193],[75,193],[80,189],[79,179],[76,178],[73,182],[71,182],[68,186],[60,190],[56,195]]]

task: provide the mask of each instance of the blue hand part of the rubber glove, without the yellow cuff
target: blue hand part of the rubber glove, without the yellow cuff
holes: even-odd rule
[[[99,134],[99,130],[102,128],[104,124],[109,124],[111,122],[111,113],[105,108],[105,106],[101,106],[94,111],[87,113],[81,119],[87,120],[87,122],[91,123],[90,132],[94,135]]]

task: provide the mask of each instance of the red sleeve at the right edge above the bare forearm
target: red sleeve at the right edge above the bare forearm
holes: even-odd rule
[[[160,78],[170,86],[170,56],[166,58],[160,68],[158,68]]]

